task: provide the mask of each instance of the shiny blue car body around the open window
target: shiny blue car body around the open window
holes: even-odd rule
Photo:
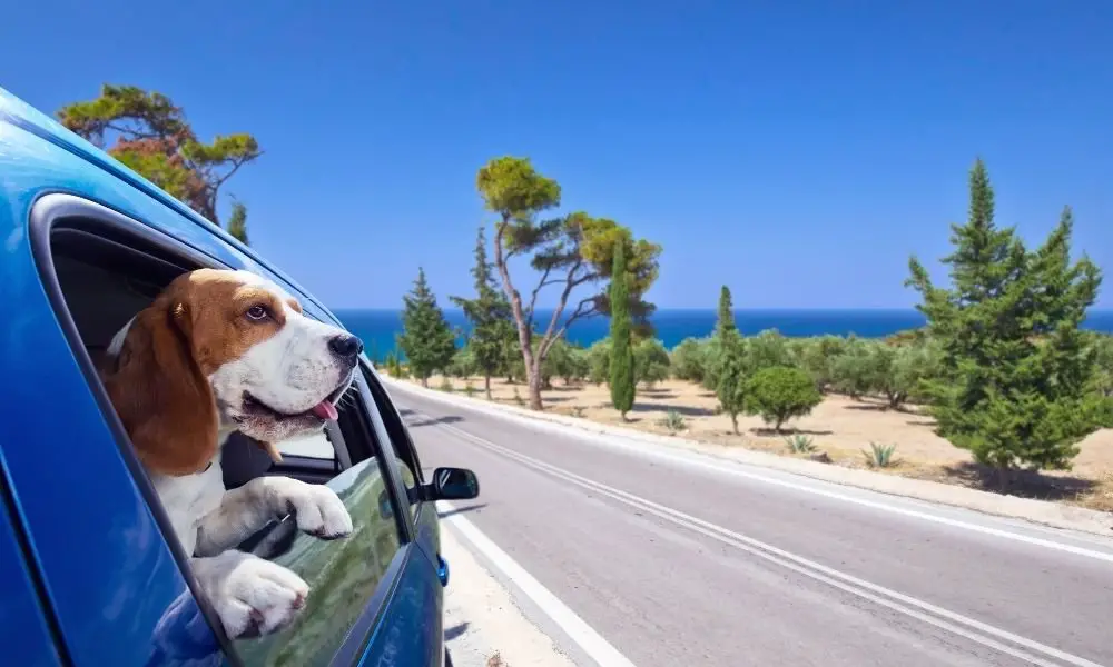
[[[180,546],[164,528],[164,512],[66,312],[60,279],[51,277],[51,235],[60,229],[100,235],[96,243],[72,246],[78,249],[158,248],[167,266],[181,258],[183,266],[248,269],[296,295],[307,313],[343,326],[252,249],[0,89],[0,663],[282,664],[288,657],[282,650],[302,648],[296,630],[286,646],[252,658],[240,650],[252,640],[229,641],[196,595]],[[359,396],[368,415],[361,418],[375,442],[359,465],[382,488],[374,520],[391,521],[376,529],[395,526],[397,545],[382,532],[383,548],[393,552],[367,595],[353,603],[351,625],[321,639],[327,650],[286,664],[442,665],[447,566],[439,554],[436,511],[414,491],[423,476],[413,442],[363,362]],[[355,466],[358,457],[349,450],[344,458]],[[317,587],[309,585],[312,600]]]

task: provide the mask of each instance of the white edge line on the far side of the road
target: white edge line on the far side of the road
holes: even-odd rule
[[[437,397],[437,398],[440,398],[440,397]],[[435,399],[431,398],[430,400],[435,400]],[[968,521],[963,521],[963,520],[959,520],[959,519],[953,519],[953,518],[949,518],[949,517],[940,517],[940,516],[933,515],[933,514],[929,514],[929,512],[926,512],[926,511],[919,511],[919,510],[916,510],[916,509],[909,509],[909,508],[904,508],[904,507],[895,507],[895,506],[889,505],[887,502],[881,502],[881,501],[877,501],[877,500],[868,500],[866,498],[856,498],[854,496],[848,496],[848,495],[845,495],[845,494],[840,494],[838,491],[830,491],[830,490],[826,490],[826,489],[820,489],[820,488],[816,488],[815,486],[811,486],[811,485],[805,485],[805,484],[799,484],[799,482],[795,482],[795,481],[788,481],[788,480],[785,480],[785,479],[777,479],[775,477],[768,477],[768,476],[760,475],[760,474],[757,474],[757,472],[749,472],[747,470],[739,470],[737,468],[737,466],[747,465],[747,464],[735,462],[735,461],[725,461],[726,465],[722,465],[722,464],[713,464],[713,462],[708,462],[708,461],[693,460],[692,458],[687,457],[687,456],[679,456],[679,455],[676,455],[676,454],[672,454],[672,452],[669,452],[669,451],[660,451],[660,450],[647,449],[644,446],[636,446],[636,445],[631,445],[629,442],[623,442],[619,438],[619,436],[612,436],[612,435],[609,435],[609,434],[595,434],[595,432],[589,432],[589,431],[578,432],[579,429],[574,429],[571,426],[561,425],[561,424],[554,424],[554,422],[549,422],[549,421],[542,421],[542,420],[539,420],[539,419],[529,419],[528,417],[520,417],[518,415],[503,414],[503,412],[501,412],[499,410],[485,410],[485,409],[481,409],[481,408],[482,407],[471,407],[471,406],[469,406],[467,408],[464,408],[464,409],[475,410],[476,412],[483,412],[483,414],[486,414],[486,415],[490,415],[490,416],[495,416],[495,417],[500,417],[500,418],[508,419],[508,420],[518,420],[518,421],[526,422],[530,427],[546,428],[550,431],[555,431],[555,432],[559,432],[559,434],[565,435],[565,436],[572,435],[572,437],[575,437],[575,438],[579,438],[579,439],[584,439],[584,440],[585,439],[593,439],[593,440],[597,440],[599,442],[604,444],[608,447],[615,448],[615,449],[626,449],[626,450],[632,451],[632,452],[634,452],[636,455],[639,455],[639,456],[656,457],[656,458],[659,458],[659,459],[669,460],[669,461],[673,461],[673,462],[681,464],[681,465],[692,466],[692,467],[696,467],[696,468],[703,468],[706,470],[709,470],[709,471],[712,471],[712,472],[717,472],[717,474],[720,474],[720,475],[732,475],[732,476],[736,476],[736,477],[743,477],[743,478],[752,479],[752,480],[760,481],[760,482],[764,482],[764,484],[770,484],[770,485],[775,485],[775,486],[780,486],[780,487],[789,488],[789,489],[797,490],[797,491],[804,491],[804,492],[812,494],[812,495],[816,495],[816,496],[823,496],[825,498],[830,498],[830,499],[834,499],[834,500],[840,500],[843,502],[850,502],[850,504],[859,505],[859,506],[863,506],[863,507],[869,507],[870,509],[877,509],[877,510],[881,510],[881,511],[887,511],[887,512],[890,512],[890,514],[902,515],[902,516],[905,516],[905,517],[920,519],[920,520],[924,520],[924,521],[932,521],[934,524],[940,524],[940,525],[944,525],[944,526],[949,526],[952,528],[961,528],[963,530],[969,530],[972,532],[981,532],[983,535],[992,535],[994,537],[999,537],[999,538],[1003,538],[1003,539],[1009,539],[1009,540],[1013,540],[1013,541],[1018,541],[1018,542],[1023,542],[1023,544],[1027,544],[1027,545],[1032,545],[1032,546],[1036,546],[1036,547],[1043,547],[1043,548],[1046,548],[1046,549],[1054,549],[1056,551],[1063,551],[1063,552],[1066,552],[1066,554],[1073,554],[1075,556],[1083,556],[1083,557],[1086,557],[1086,558],[1093,558],[1095,560],[1103,560],[1105,563],[1113,563],[1113,552],[1097,551],[1097,550],[1094,550],[1094,549],[1087,549],[1085,547],[1078,547],[1078,546],[1075,546],[1075,545],[1066,545],[1066,544],[1063,544],[1063,542],[1057,542],[1057,541],[1050,540],[1050,539],[1044,539],[1044,538],[1041,538],[1041,537],[1034,537],[1034,536],[1031,536],[1031,535],[1022,535],[1022,534],[1018,534],[1018,532],[1013,532],[1011,530],[1004,530],[1004,529],[1001,529],[1001,528],[993,528],[993,527],[989,527],[989,526],[979,526],[977,524],[971,524]],[[654,445],[654,447],[660,447],[660,446]],[[699,452],[693,452],[693,455],[695,456],[700,456]],[[786,471],[786,475],[794,475],[794,474]],[[823,482],[825,482],[825,480],[819,480],[817,484],[823,484]],[[837,484],[837,482],[826,482],[826,484]],[[868,490],[868,489],[865,489],[865,490]],[[874,492],[880,492],[880,491],[874,491]],[[927,500],[923,500],[923,502],[928,502],[928,501]]]

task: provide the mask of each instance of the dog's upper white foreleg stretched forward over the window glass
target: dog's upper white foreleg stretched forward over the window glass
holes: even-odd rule
[[[352,516],[335,491],[288,477],[257,477],[226,491],[220,506],[197,527],[198,556],[219,554],[244,541],[272,519],[294,514],[297,527],[323,539],[352,532]]]

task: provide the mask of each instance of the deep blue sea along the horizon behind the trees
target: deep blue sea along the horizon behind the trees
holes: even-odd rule
[[[383,360],[395,349],[395,336],[402,332],[402,311],[397,309],[335,310],[334,315],[349,331],[358,336],[367,357]],[[450,326],[461,332],[460,342],[470,328],[462,310],[445,310]],[[548,326],[552,311],[538,309],[535,320]],[[715,329],[715,309],[660,309],[652,318],[657,338],[672,349],[684,338],[708,336]],[[742,334],[751,336],[776,329],[789,337],[849,336],[884,338],[897,331],[915,329],[925,323],[924,316],[914,309],[902,310],[736,310],[735,321]],[[583,347],[605,338],[610,322],[605,317],[591,317],[572,322],[568,339]],[[1113,334],[1113,310],[1093,310],[1085,327]]]

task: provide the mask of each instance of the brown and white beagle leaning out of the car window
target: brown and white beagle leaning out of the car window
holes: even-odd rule
[[[323,539],[351,534],[352,517],[327,487],[287,477],[226,490],[221,447],[238,430],[280,460],[274,442],[337,418],[362,350],[269,280],[214,269],[175,279],[108,347],[108,396],[232,638],[287,627],[309,591],[292,570],[234,547],[292,512]]]

